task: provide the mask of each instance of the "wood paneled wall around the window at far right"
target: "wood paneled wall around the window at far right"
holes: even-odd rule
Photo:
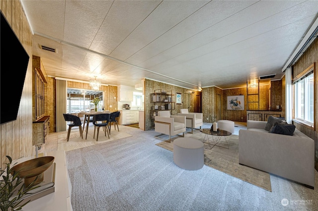
[[[315,129],[293,122],[296,128],[315,140],[315,152],[318,151],[318,39],[310,45],[299,60],[293,65],[293,78],[315,62]],[[315,168],[318,170],[318,158],[315,157]]]

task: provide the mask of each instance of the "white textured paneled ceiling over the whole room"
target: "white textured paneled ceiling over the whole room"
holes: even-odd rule
[[[49,76],[134,86],[149,78],[222,89],[276,74],[318,1],[22,0]],[[57,53],[40,49],[47,46]]]

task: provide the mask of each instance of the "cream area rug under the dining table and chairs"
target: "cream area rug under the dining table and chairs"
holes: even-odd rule
[[[83,139],[79,135],[79,130],[72,130],[70,134],[70,139],[67,141],[67,132],[59,135],[58,137],[58,150],[64,150],[64,151],[71,151],[80,149],[83,147],[89,147],[97,144],[102,144],[105,142],[115,141],[122,138],[130,137],[132,135],[124,132],[124,131],[118,131],[114,130],[112,127],[111,134],[109,135],[109,138],[105,136],[105,132],[100,128],[99,135],[98,135],[98,141],[96,141],[97,137],[97,129],[95,132],[95,138],[93,138],[94,135],[94,128],[89,127],[88,133],[87,133],[87,139],[85,139],[86,132],[83,133]]]

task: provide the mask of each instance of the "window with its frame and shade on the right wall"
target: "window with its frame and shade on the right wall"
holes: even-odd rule
[[[310,80],[312,79],[312,80]],[[293,79],[294,121],[315,127],[315,63]],[[311,92],[312,91],[312,92]],[[301,105],[303,104],[303,105]],[[312,113],[310,110],[312,109]]]

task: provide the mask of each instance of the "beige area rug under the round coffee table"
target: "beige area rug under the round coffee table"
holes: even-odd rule
[[[185,136],[192,137],[201,141],[204,140],[205,165],[239,178],[250,184],[256,185],[267,191],[272,191],[269,173],[239,164],[238,135],[227,136],[226,140],[228,143],[226,143],[224,137],[222,137],[217,146],[213,147],[212,149],[210,149],[211,145],[208,144],[209,142],[205,134],[201,133],[199,130],[194,130],[193,134],[186,133]],[[175,140],[176,138],[180,137],[176,136],[171,138],[171,143],[163,141],[156,145],[173,152],[173,140]],[[212,143],[212,136],[209,135],[208,138]],[[226,149],[228,146],[229,149]]]

